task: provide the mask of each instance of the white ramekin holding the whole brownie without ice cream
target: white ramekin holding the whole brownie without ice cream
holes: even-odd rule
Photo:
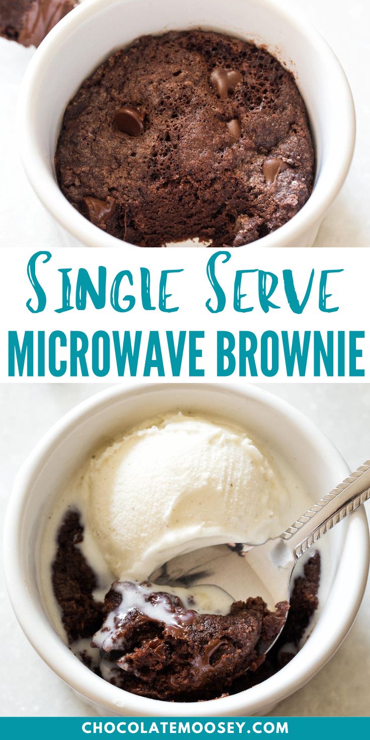
[[[297,11],[277,0],[90,0],[50,31],[21,87],[21,159],[44,206],[76,245],[132,246],[93,226],[64,198],[54,152],[64,110],[98,64],[142,34],[201,27],[265,44],[295,75],[306,102],[316,152],[309,201],[259,246],[312,246],[339,192],[354,149],[354,105],[346,75],[326,41]]]

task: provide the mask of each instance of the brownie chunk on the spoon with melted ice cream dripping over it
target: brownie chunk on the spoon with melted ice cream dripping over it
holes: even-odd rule
[[[151,699],[198,701],[223,693],[263,662],[289,609],[281,602],[269,612],[258,598],[235,602],[226,616],[199,614],[185,609],[177,596],[148,590],[144,601],[154,608],[149,616],[138,608],[122,613],[125,596],[132,604],[142,586],[113,583],[104,602],[106,619],[92,645],[101,650],[103,677]],[[162,613],[155,619],[158,608]]]

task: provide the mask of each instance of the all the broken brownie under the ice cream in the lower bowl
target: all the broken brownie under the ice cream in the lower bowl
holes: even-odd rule
[[[100,650],[100,667],[81,649],[80,659],[132,693],[194,701],[245,690],[277,673],[295,656],[317,609],[318,552],[306,562],[303,576],[295,579],[286,624],[267,654],[284,622],[286,602],[277,605],[275,612],[257,598],[235,602],[226,616],[199,614],[186,609],[175,596],[150,592],[149,585],[115,582],[103,605],[93,598],[95,574],[78,547],[83,536],[78,512],[68,512],[58,532],[52,568],[67,639],[70,645],[81,637],[93,640]],[[165,621],[159,619],[160,613],[153,619],[139,608],[118,617],[124,596],[132,602],[130,592],[140,588],[144,589],[141,598],[152,608],[161,614],[166,610]]]

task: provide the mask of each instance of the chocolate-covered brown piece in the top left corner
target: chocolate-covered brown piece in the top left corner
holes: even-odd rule
[[[37,47],[75,4],[74,0],[1,0],[0,36]]]

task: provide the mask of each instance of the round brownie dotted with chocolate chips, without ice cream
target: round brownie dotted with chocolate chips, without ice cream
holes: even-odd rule
[[[314,152],[291,73],[263,47],[201,30],[144,36],[67,106],[58,183],[119,239],[240,246],[294,216]]]

